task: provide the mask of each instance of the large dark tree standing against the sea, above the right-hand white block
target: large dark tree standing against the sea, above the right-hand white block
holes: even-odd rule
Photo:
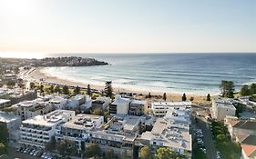
[[[232,81],[221,81],[220,91],[222,97],[233,98],[234,90],[234,83]]]

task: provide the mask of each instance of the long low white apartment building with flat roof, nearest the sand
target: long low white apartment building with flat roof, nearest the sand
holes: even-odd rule
[[[164,116],[171,107],[191,107],[191,102],[152,102],[151,109],[155,116]]]

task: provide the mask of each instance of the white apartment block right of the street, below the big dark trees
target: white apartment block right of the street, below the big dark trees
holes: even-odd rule
[[[222,121],[226,115],[235,116],[236,108],[230,99],[219,97],[212,100],[211,112],[213,118]]]

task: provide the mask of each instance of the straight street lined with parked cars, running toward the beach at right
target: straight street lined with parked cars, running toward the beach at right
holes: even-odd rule
[[[210,124],[203,117],[198,118],[198,127],[202,130],[203,142],[205,144],[207,156],[209,159],[216,159],[216,148],[213,143],[212,134],[210,132]]]

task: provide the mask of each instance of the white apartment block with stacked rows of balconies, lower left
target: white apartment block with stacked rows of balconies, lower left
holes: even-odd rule
[[[19,143],[26,147],[45,148],[46,143],[56,134],[56,127],[70,121],[74,116],[74,111],[56,110],[26,119],[20,127]]]

